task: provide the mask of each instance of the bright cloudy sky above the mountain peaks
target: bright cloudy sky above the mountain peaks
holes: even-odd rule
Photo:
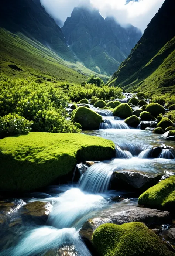
[[[71,16],[74,7],[91,5],[103,17],[113,16],[121,24],[132,24],[144,32],[148,23],[165,0],[41,0],[46,11],[62,24]]]

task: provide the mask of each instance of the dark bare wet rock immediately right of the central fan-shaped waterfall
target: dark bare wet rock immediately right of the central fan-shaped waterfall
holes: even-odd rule
[[[116,171],[113,173],[111,189],[143,192],[157,184],[161,177],[131,170]]]

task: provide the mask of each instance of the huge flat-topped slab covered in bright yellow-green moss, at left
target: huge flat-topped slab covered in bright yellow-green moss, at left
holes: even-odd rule
[[[78,133],[30,132],[0,140],[0,188],[31,191],[72,172],[77,162],[115,156],[112,141]]]

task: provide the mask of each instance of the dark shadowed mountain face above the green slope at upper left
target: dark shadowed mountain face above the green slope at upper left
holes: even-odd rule
[[[46,13],[40,0],[3,0],[0,7],[0,27],[13,33],[23,33],[51,48],[64,58],[73,58],[61,28]]]

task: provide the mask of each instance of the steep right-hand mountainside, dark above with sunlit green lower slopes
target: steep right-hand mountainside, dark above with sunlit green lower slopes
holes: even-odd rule
[[[175,93],[175,1],[165,0],[108,85],[127,91]]]

